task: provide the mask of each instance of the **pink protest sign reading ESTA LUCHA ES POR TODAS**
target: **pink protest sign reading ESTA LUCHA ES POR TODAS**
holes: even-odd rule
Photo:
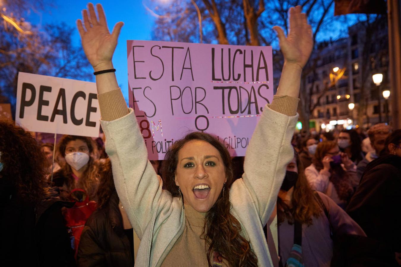
[[[127,41],[130,107],[149,159],[193,130],[218,137],[244,156],[273,99],[271,46]]]

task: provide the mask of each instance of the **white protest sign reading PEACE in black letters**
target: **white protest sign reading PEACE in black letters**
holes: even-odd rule
[[[99,136],[96,84],[18,73],[15,122],[33,132]]]

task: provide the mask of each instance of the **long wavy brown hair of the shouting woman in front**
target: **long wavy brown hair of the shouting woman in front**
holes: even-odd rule
[[[215,205],[206,215],[203,227],[203,236],[209,243],[207,259],[209,266],[213,252],[219,252],[231,266],[257,266],[257,257],[253,253],[249,241],[240,235],[241,225],[239,221],[230,213],[231,203],[228,191],[234,182],[231,157],[225,146],[215,137],[203,132],[191,132],[184,138],[174,142],[164,157],[162,163],[162,179],[164,188],[174,197],[180,197],[178,186],[174,177],[178,164],[178,151],[191,140],[203,140],[215,147],[225,166],[227,182],[225,187],[227,193],[220,193]]]

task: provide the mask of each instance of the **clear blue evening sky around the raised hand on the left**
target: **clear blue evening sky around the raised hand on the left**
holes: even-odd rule
[[[54,8],[47,8],[45,12],[31,12],[28,20],[32,24],[45,25],[66,22],[75,26],[81,18],[81,10],[86,8],[88,0],[55,0]],[[93,2],[96,4],[97,2]],[[113,30],[116,22],[124,22],[119,36],[119,42],[113,56],[113,64],[117,81],[128,102],[128,69],[127,69],[127,43],[126,40],[150,40],[154,17],[146,11],[142,0],[115,0],[99,1],[106,13],[109,30]],[[74,44],[81,46],[78,30],[73,36]],[[91,81],[95,81],[94,78]]]

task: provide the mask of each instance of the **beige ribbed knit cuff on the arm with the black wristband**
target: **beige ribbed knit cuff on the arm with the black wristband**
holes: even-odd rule
[[[111,121],[124,117],[129,113],[127,103],[120,88],[98,94],[100,116],[102,120]]]

